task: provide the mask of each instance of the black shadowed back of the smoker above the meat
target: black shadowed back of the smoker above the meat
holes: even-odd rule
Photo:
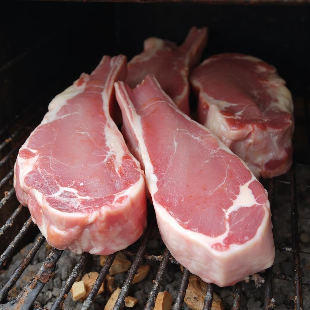
[[[48,102],[104,54],[128,59],[149,36],[181,43],[209,27],[204,57],[241,52],[275,65],[294,95],[309,81],[309,6],[15,2],[0,13],[0,121]]]

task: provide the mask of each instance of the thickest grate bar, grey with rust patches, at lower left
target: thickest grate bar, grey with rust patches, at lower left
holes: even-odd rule
[[[42,263],[42,266],[31,279],[30,284],[27,285],[16,298],[11,298],[8,303],[3,305],[3,309],[30,309],[45,283],[51,279],[52,274],[56,268],[56,263],[62,252],[62,250],[57,250],[55,248],[51,250],[50,254],[47,255],[47,258]]]

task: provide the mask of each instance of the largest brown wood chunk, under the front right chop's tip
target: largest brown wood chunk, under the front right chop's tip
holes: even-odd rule
[[[184,302],[192,310],[202,310],[207,291],[207,283],[199,277],[191,275],[184,297]],[[222,300],[217,294],[213,294],[212,310],[224,310]]]

